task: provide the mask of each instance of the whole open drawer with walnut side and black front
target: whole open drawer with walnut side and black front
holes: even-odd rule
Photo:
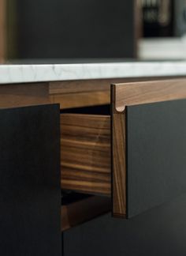
[[[61,187],[110,196],[113,216],[128,218],[186,192],[186,80],[111,95],[111,115],[61,115]]]

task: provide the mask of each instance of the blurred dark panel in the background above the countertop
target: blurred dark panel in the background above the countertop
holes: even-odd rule
[[[16,0],[15,6],[17,58],[135,55],[133,1]]]

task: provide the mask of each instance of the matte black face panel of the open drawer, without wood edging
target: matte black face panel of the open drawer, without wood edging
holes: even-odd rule
[[[127,107],[128,217],[186,192],[186,100]]]

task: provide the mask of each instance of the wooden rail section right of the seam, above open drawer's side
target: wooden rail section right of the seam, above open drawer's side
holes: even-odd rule
[[[110,104],[111,84],[151,81],[152,79],[158,79],[158,77],[50,81],[50,102],[60,104],[61,109]]]

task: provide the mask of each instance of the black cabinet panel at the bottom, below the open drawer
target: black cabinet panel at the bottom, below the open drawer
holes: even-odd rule
[[[64,233],[65,256],[185,256],[186,195],[129,220],[110,215]]]

